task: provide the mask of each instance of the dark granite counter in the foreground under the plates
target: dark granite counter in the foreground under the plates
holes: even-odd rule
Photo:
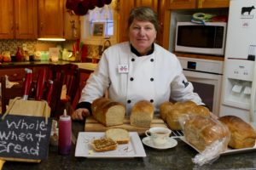
[[[83,131],[84,123],[73,122],[73,136],[78,137],[78,133]],[[7,161],[3,165],[3,170],[80,170],[80,169],[124,169],[124,170],[167,170],[167,169],[256,169],[256,152],[247,152],[220,156],[212,164],[203,166],[195,165],[192,158],[197,152],[182,140],[177,139],[176,147],[168,150],[155,150],[143,145],[146,151],[146,157],[137,158],[85,158],[75,157],[75,143],[72,147],[72,153],[69,156],[58,155],[56,146],[49,146],[49,156],[47,160],[40,163],[26,163]]]

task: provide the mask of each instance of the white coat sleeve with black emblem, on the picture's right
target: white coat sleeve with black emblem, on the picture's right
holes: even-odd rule
[[[197,105],[205,105],[202,103],[198,94],[194,93],[194,88],[191,82],[188,82],[187,78],[181,72],[175,77],[171,84],[171,98],[176,101],[188,101],[192,100]]]

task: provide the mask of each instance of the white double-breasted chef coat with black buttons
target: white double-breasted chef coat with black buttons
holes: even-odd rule
[[[121,72],[119,67],[128,68]],[[170,97],[177,101],[192,100],[203,105],[193,86],[183,75],[177,57],[154,43],[154,53],[138,57],[131,53],[129,42],[106,49],[96,70],[82,90],[79,102],[92,102],[108,90],[109,98],[123,103],[129,115],[131,107],[146,99],[156,111]]]

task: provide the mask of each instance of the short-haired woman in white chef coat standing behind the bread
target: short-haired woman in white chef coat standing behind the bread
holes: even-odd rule
[[[177,57],[154,43],[159,23],[151,8],[131,10],[129,42],[106,49],[94,73],[87,80],[73,119],[90,115],[90,104],[108,90],[109,98],[123,103],[126,113],[137,101],[146,99],[158,109],[170,99],[193,100],[203,105],[193,93],[193,86],[183,75]]]

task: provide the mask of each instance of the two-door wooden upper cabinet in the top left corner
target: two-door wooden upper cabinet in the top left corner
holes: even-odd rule
[[[37,0],[0,0],[0,38],[37,38]]]

